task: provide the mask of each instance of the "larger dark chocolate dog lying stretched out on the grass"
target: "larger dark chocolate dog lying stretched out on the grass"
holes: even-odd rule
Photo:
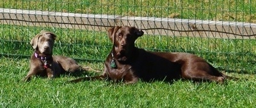
[[[131,84],[140,78],[145,81],[192,79],[223,83],[225,79],[233,79],[219,72],[203,58],[190,53],[154,52],[136,48],[134,42],[143,36],[143,31],[135,27],[113,27],[108,30],[108,36],[113,47],[106,58],[102,75],[70,82],[111,79]]]

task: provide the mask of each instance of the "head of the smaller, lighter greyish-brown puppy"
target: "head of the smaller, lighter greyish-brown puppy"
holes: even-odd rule
[[[40,34],[37,34],[33,39],[31,39],[30,44],[33,49],[40,51],[43,54],[52,54],[52,48],[56,35],[52,32],[42,30]]]

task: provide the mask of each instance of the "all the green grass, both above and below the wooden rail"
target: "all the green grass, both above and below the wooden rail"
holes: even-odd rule
[[[74,13],[129,15],[143,17],[191,18],[255,22],[252,1],[14,1],[1,8],[63,11]],[[99,8],[100,7],[100,8]],[[169,7],[169,8],[168,8]],[[114,10],[114,11],[113,11]],[[202,14],[204,13],[204,14]],[[111,50],[106,31],[72,30],[51,27],[1,25],[0,107],[255,107],[255,39],[211,39],[199,37],[149,36],[136,46],[150,51],[188,52],[205,58],[230,76],[225,84],[192,81],[139,81],[126,85],[111,81],[66,83],[100,73],[65,74],[56,79],[22,79],[29,71],[33,49],[30,39],[40,30],[57,34],[54,55],[65,55],[81,65],[103,71]]]

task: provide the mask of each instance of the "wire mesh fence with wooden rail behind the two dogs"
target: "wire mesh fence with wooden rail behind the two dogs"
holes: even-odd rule
[[[108,29],[129,25],[145,31],[140,48],[194,53],[221,71],[255,73],[255,7],[223,0],[7,0],[0,3],[0,55],[29,58],[30,39],[46,29],[58,36],[54,54],[104,61]]]

